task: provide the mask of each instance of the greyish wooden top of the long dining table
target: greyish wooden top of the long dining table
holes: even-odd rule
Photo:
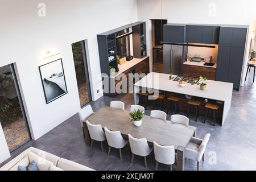
[[[155,141],[163,146],[173,145],[175,149],[179,146],[186,147],[196,130],[196,127],[172,124],[170,121],[148,115],[144,115],[142,125],[136,127],[133,122],[130,122],[129,113],[127,110],[104,106],[90,115],[87,120],[92,124],[107,127],[109,130],[121,131],[125,136],[131,134],[136,138],[147,138],[150,143]]]

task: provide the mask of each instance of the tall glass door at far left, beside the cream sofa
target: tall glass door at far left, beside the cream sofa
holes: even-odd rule
[[[31,140],[13,64],[0,67],[0,122],[10,152]]]

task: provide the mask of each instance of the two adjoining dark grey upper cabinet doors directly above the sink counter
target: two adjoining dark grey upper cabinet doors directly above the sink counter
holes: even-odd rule
[[[218,44],[220,26],[187,25],[186,42]]]

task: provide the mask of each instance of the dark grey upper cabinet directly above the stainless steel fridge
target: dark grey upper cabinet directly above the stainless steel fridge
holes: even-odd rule
[[[185,25],[164,24],[163,42],[185,43]]]

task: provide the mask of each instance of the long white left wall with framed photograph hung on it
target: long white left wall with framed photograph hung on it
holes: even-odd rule
[[[0,67],[16,63],[32,138],[38,139],[80,110],[71,44],[88,40],[90,84],[97,100],[102,96],[97,34],[136,22],[137,1],[0,1]],[[40,2],[46,3],[46,17],[38,16]],[[43,60],[48,50],[61,53],[68,94],[47,105],[38,67],[51,61]],[[2,150],[1,145],[1,157]]]

